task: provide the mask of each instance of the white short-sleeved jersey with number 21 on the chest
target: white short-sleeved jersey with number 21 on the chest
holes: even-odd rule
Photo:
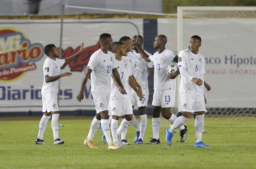
[[[115,56],[111,51],[108,54],[101,49],[90,56],[87,68],[93,70],[91,73],[91,91],[110,91],[112,69],[116,68]]]

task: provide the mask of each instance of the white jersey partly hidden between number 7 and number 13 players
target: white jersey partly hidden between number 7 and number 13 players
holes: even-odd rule
[[[151,56],[147,51],[144,50],[144,52]],[[154,63],[153,62],[146,62],[143,57],[140,55],[140,53],[136,53],[135,50],[131,51],[131,54],[134,55],[134,77],[136,81],[143,86],[148,86],[148,74],[149,69],[153,68]]]

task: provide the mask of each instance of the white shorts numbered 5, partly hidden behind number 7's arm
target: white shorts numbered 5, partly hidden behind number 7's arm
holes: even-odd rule
[[[139,96],[136,92],[132,90],[131,103],[133,106],[145,107],[148,105],[148,86],[141,86],[142,89],[142,101],[140,101]]]

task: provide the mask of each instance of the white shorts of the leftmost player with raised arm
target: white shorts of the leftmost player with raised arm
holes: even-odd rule
[[[58,109],[58,94],[42,94],[43,110],[42,112],[57,112]]]

